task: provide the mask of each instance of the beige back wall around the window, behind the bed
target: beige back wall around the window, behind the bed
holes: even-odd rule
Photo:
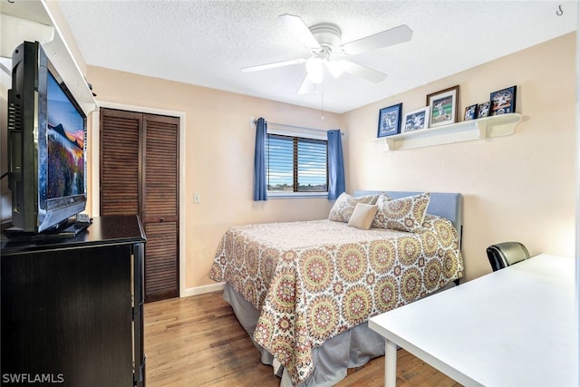
[[[228,227],[328,216],[326,198],[252,200],[256,131],[250,117],[333,129],[339,126],[337,114],[327,112],[323,121],[317,110],[92,66],[87,75],[98,101],[185,113],[180,216],[186,289],[214,284],[208,273]],[[198,204],[194,192],[200,194]]]

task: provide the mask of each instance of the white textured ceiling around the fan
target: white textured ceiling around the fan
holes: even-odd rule
[[[324,110],[350,111],[576,29],[575,1],[70,1],[59,0],[86,63]],[[308,58],[278,15],[337,24],[343,43],[400,24],[404,44],[353,55],[387,74],[374,84],[325,74],[298,95],[304,63],[256,73],[240,69]],[[549,58],[546,58],[549,60]],[[533,65],[533,63],[530,63]],[[89,80],[91,82],[91,80]],[[95,92],[99,85],[93,84]]]

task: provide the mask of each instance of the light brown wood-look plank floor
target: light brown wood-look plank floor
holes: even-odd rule
[[[221,292],[145,305],[147,386],[275,387],[256,347]],[[405,350],[398,351],[397,386],[460,387]],[[384,357],[349,370],[337,386],[383,385]]]

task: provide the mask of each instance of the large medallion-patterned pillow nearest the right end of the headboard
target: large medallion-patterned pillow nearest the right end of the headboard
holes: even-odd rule
[[[407,198],[377,200],[377,214],[372,227],[391,228],[393,230],[419,232],[429,206],[430,192]]]

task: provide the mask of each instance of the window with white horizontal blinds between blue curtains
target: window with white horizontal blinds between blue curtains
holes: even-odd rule
[[[268,133],[268,193],[327,193],[327,141]]]

